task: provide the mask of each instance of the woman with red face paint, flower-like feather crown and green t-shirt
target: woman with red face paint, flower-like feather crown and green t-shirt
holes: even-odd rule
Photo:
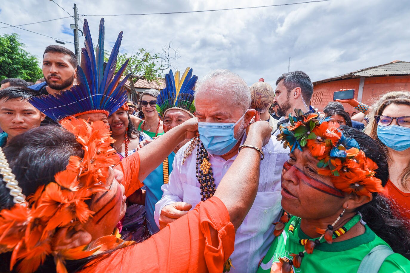
[[[285,213],[257,272],[409,272],[410,233],[378,194],[388,179],[383,150],[331,117],[297,115],[278,135],[291,150]]]

